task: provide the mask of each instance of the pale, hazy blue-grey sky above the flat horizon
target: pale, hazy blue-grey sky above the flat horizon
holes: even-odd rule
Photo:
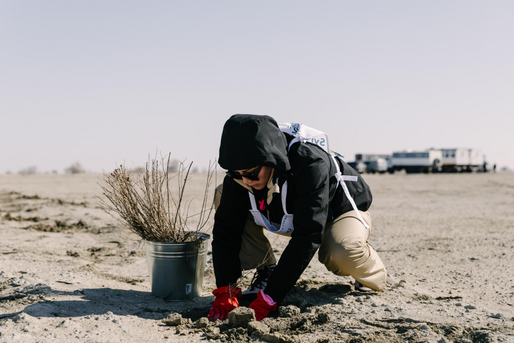
[[[0,173],[205,168],[235,113],[514,169],[514,2],[0,2]]]

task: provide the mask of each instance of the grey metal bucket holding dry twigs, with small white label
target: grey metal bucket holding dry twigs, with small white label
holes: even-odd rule
[[[195,242],[144,241],[152,295],[168,301],[199,297],[210,238],[199,233]]]

